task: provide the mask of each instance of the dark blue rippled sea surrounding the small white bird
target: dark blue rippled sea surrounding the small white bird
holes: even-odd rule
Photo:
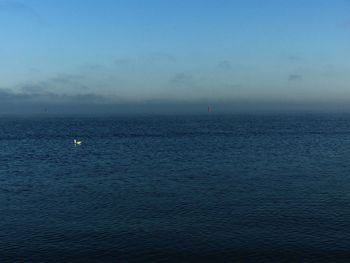
[[[0,262],[350,262],[350,116],[0,118]]]

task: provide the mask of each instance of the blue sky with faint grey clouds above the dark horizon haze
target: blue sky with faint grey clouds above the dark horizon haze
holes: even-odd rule
[[[349,84],[349,0],[0,0],[2,104],[339,105]]]

